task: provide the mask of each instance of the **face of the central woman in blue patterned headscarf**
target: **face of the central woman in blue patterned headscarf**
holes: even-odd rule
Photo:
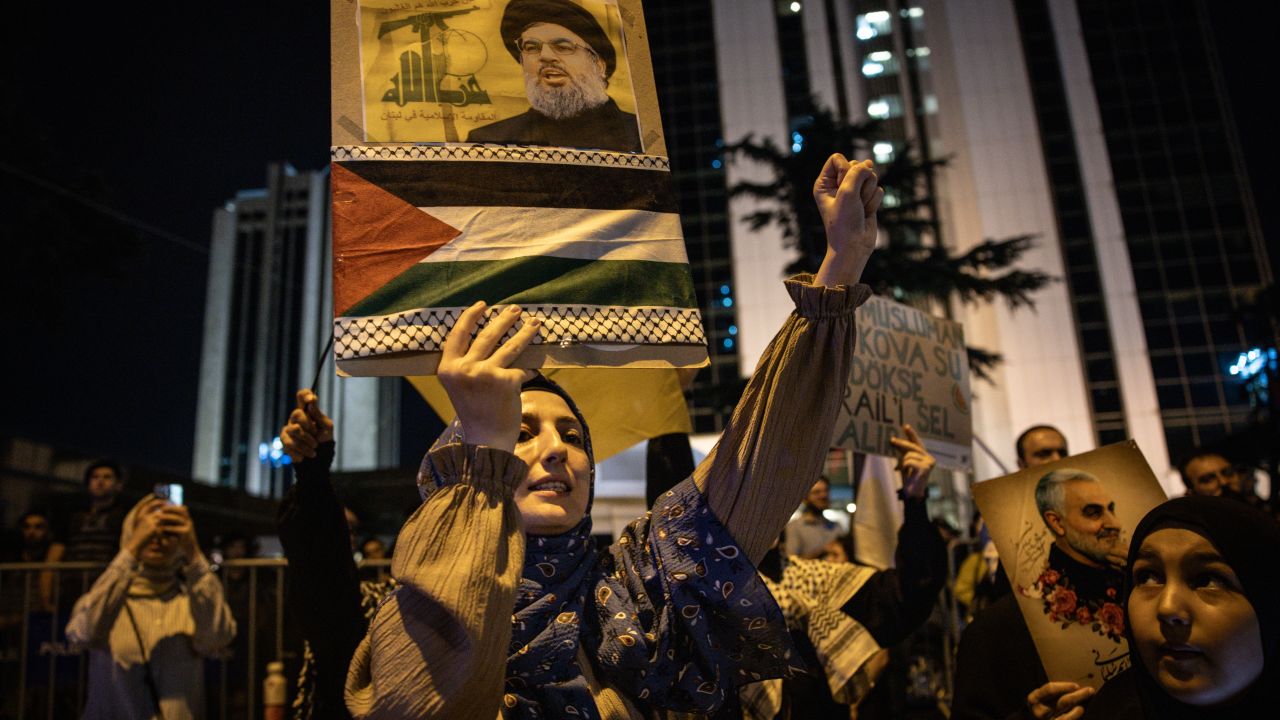
[[[556,393],[525,391],[520,406],[516,456],[529,465],[529,475],[516,488],[516,506],[526,533],[558,536],[577,525],[591,496],[586,434]]]

